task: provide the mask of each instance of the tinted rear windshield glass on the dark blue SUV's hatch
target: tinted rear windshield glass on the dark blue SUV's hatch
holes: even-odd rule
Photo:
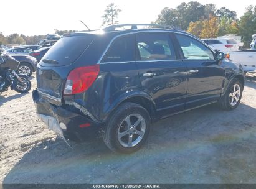
[[[44,59],[40,61],[40,65],[45,67],[69,65],[75,62],[93,39],[94,35],[91,34],[62,37],[44,55]],[[44,62],[45,59],[54,60],[55,63],[45,63],[47,62]]]

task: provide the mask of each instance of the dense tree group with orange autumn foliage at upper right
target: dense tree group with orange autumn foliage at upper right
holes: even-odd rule
[[[238,19],[237,13],[227,7],[216,9],[214,4],[183,2],[174,9],[165,7],[154,23],[173,25],[200,38],[237,34],[242,36],[244,47],[249,47],[252,34],[256,34],[256,6],[247,7]]]

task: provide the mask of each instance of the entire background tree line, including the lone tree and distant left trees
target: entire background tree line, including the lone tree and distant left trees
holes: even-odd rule
[[[102,16],[103,25],[118,24],[118,14],[121,9],[111,3]],[[155,24],[173,25],[186,30],[200,38],[217,37],[225,34],[242,36],[244,47],[249,47],[252,34],[256,34],[256,6],[245,9],[244,15],[237,18],[237,13],[226,7],[216,9],[214,4],[200,4],[197,1],[181,3],[175,8],[165,7],[158,15]],[[76,30],[58,30],[55,34],[63,35]],[[25,36],[23,34],[2,35],[1,44],[37,44],[46,35]]]

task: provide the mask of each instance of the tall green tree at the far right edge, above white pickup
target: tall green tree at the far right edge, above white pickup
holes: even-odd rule
[[[252,34],[256,34],[256,6],[251,5],[245,9],[245,13],[239,21],[239,35],[242,36],[244,47],[250,46]]]

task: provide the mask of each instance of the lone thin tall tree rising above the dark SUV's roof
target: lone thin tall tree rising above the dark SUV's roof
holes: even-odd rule
[[[102,25],[113,25],[118,24],[118,13],[121,12],[121,9],[118,9],[115,4],[110,3],[105,9],[105,14],[103,14],[103,24]]]

